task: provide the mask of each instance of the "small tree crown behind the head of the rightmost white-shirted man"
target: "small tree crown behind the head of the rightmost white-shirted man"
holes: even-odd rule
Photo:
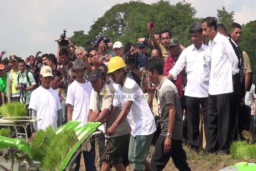
[[[234,11],[228,12],[224,6],[222,6],[221,10],[217,10],[218,22],[224,24],[226,30],[229,34],[230,27],[234,23]]]

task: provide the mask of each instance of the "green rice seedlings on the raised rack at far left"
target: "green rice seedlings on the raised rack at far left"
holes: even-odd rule
[[[7,103],[0,107],[2,117],[26,117],[26,105],[18,101]],[[13,119],[16,120],[16,119]]]

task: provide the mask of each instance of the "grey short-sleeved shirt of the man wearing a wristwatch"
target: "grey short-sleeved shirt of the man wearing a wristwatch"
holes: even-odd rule
[[[169,123],[168,104],[175,105],[175,123],[172,131],[172,139],[182,140],[182,119],[183,113],[180,104],[179,93],[176,86],[166,77],[164,77],[159,85],[158,97],[160,100],[161,116],[160,124],[162,132],[160,135],[166,136]]]

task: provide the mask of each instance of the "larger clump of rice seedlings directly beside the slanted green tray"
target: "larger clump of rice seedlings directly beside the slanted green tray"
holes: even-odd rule
[[[58,133],[53,138],[50,147],[45,149],[47,155],[43,160],[41,169],[59,170],[68,153],[77,141],[74,129],[66,128]]]

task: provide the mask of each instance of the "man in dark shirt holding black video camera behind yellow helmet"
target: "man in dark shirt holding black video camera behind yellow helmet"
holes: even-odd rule
[[[126,67],[132,71],[132,77],[135,79],[138,85],[141,84],[142,70],[148,62],[148,58],[144,54],[140,54],[136,51],[133,43],[129,42],[125,45],[125,57],[122,56],[126,63]],[[129,62],[130,61],[130,62]]]

